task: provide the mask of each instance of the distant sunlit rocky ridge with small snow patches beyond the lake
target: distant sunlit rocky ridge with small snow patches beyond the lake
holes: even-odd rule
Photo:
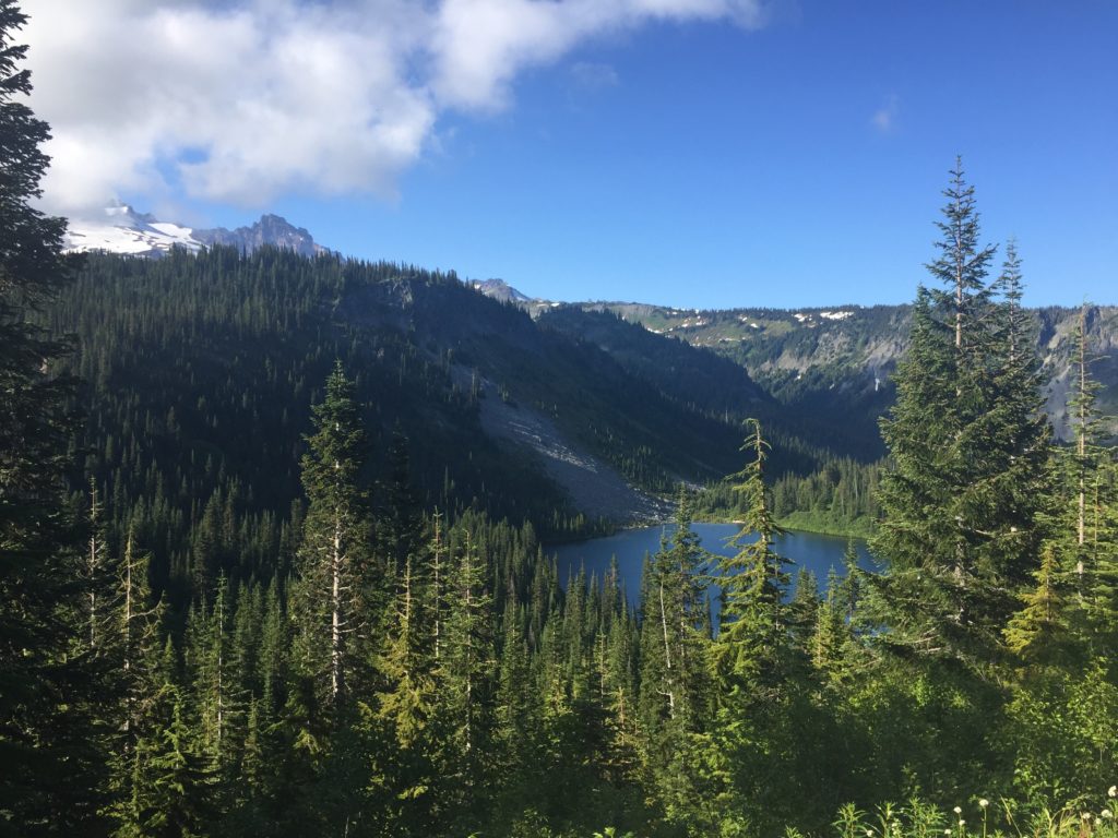
[[[646,303],[549,303],[524,298],[514,288],[505,298],[547,321],[569,314],[608,313],[647,332],[709,350],[745,368],[750,379],[786,408],[799,436],[859,458],[883,453],[878,417],[892,403],[890,377],[908,347],[908,305],[805,308],[688,310]],[[561,306],[561,307],[560,307]],[[1046,306],[1030,311],[1038,356],[1048,380],[1046,410],[1057,436],[1069,439],[1067,399],[1074,374],[1074,334],[1080,310]],[[1118,306],[1089,306],[1091,373],[1101,384],[1099,407],[1118,436]],[[600,323],[582,321],[581,334],[612,353]]]

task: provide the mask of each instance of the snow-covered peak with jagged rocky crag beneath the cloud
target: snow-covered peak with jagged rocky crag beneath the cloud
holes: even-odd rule
[[[275,245],[304,256],[328,253],[310,232],[280,216],[262,216],[252,227],[238,227],[236,230],[224,227],[205,230],[159,221],[150,213],[136,212],[126,204],[106,208],[100,219],[70,219],[66,249],[160,256],[172,247],[196,251],[210,245],[230,245],[240,250]]]

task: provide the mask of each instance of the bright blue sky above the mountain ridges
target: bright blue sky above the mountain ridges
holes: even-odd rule
[[[388,168],[376,164],[381,145],[372,163],[332,169],[348,151],[296,126],[293,143],[321,151],[320,168],[238,191],[225,185],[239,183],[227,166],[199,185],[181,164],[216,158],[217,146],[177,143],[168,122],[150,130],[162,137],[151,147],[138,141],[146,170],[136,163],[91,188],[196,223],[275,211],[347,254],[500,277],[553,299],[873,304],[909,301],[925,280],[958,153],[985,238],[1018,241],[1026,302],[1118,303],[1118,3],[802,0],[743,21],[727,11],[731,0],[667,2],[678,6],[669,19],[624,12],[570,23],[562,37],[483,42],[491,63],[476,73],[464,64],[476,31],[454,30],[466,57],[447,47],[458,64],[432,69],[416,56],[449,30],[408,28],[418,46],[392,78],[421,107],[391,99],[417,116],[401,123],[411,144],[390,145]],[[504,8],[474,0],[486,3]],[[32,48],[53,56],[50,29],[35,35]],[[44,59],[48,83],[66,60],[73,68],[65,53]],[[353,95],[383,102],[390,87]],[[65,139],[65,103],[49,92],[44,102]],[[263,170],[293,165],[277,145]],[[250,169],[245,147],[249,162],[238,165]]]

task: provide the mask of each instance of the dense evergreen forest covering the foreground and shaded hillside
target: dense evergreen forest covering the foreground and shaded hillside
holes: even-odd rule
[[[1053,442],[1021,263],[961,165],[865,465],[496,303],[492,358],[353,327],[476,297],[449,275],[66,257],[22,22],[0,0],[0,834],[1115,835],[1118,466],[1086,330]],[[483,432],[456,372],[482,363],[559,426],[600,410],[587,445],[650,487],[740,447],[737,553],[702,551],[684,486],[635,608],[616,573],[558,579],[541,530],[591,524]],[[695,448],[653,456],[673,435]],[[882,571],[788,597],[794,508],[875,521]]]

